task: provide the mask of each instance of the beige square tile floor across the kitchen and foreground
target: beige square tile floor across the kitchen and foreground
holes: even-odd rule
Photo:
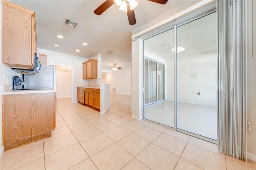
[[[0,169],[256,169],[255,162],[220,154],[216,144],[134,120],[124,104],[112,100],[108,112],[100,115],[59,98],[51,137],[4,152]]]

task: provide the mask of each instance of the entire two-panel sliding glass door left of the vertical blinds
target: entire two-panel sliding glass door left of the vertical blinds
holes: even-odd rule
[[[144,39],[144,119],[217,140],[216,28],[209,12]]]

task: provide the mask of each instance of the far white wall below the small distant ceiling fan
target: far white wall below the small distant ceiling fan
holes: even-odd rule
[[[116,88],[116,93],[122,95],[132,94],[132,70],[131,68],[117,69],[113,73],[106,73],[106,84],[110,85],[110,93]]]

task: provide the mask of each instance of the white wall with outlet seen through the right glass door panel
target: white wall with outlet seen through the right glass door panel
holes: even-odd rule
[[[177,101],[217,107],[217,54],[178,56]],[[198,95],[198,92],[200,95]]]

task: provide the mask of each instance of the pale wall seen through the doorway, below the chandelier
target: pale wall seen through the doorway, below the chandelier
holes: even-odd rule
[[[72,69],[64,71],[60,69],[63,66],[56,66],[56,95],[58,97],[71,97],[72,96]]]

